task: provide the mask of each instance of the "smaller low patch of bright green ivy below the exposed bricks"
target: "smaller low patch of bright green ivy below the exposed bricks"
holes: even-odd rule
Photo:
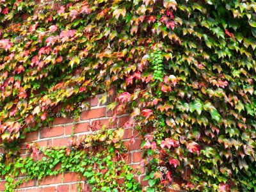
[[[132,168],[125,164],[124,155],[120,154],[124,148],[120,143],[122,133],[122,130],[99,131],[92,136],[84,136],[82,143],[73,139],[70,146],[61,148],[39,148],[35,143],[28,144],[31,157],[15,158],[8,164],[0,162],[1,174],[6,179],[5,191],[13,191],[31,179],[40,180],[64,172],[81,173],[92,191],[140,191]],[[44,156],[35,161],[38,154]],[[15,179],[20,173],[26,175],[25,179]],[[79,187],[77,189],[83,191]]]

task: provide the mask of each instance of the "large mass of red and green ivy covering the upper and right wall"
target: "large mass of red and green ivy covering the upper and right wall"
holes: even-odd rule
[[[0,2],[0,134],[10,153],[59,104],[77,114],[87,97],[116,93],[109,109],[113,120],[131,112],[148,191],[174,177],[175,189],[255,188],[254,0]]]

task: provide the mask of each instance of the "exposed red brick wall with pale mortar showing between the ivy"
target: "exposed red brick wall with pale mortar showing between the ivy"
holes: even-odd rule
[[[99,104],[99,97],[93,97],[88,99],[91,105],[89,111],[83,111],[79,119],[76,120],[76,128],[73,137],[79,137],[84,134],[92,134],[93,131],[97,131],[102,128],[102,125],[107,125],[108,129],[116,129],[116,127],[123,127],[125,122],[129,119],[129,114],[118,115],[116,121],[113,124],[109,124],[112,111],[108,111],[107,104]],[[70,141],[70,134],[72,133],[74,119],[67,118],[55,118],[51,127],[45,127],[35,132],[29,132],[26,135],[26,140],[20,143],[22,150],[22,157],[30,156],[26,153],[25,146],[27,143],[36,143],[40,147],[63,147]],[[136,168],[141,160],[142,152],[140,150],[141,141],[139,138],[135,138],[135,143],[129,145],[129,140],[132,136],[136,136],[136,131],[131,127],[125,127],[123,136],[124,144],[129,148],[129,153],[125,157],[127,164],[132,168]],[[38,154],[40,159],[40,154]],[[82,182],[79,182],[79,176]],[[143,182],[143,174],[136,176],[136,179],[145,185]],[[46,177],[42,180],[29,180],[20,186],[19,192],[30,191],[77,191],[77,184],[81,186],[83,191],[90,191],[90,187],[86,184],[86,181],[82,175],[76,173],[64,173],[61,175]],[[4,181],[1,180],[0,191],[4,190]]]

